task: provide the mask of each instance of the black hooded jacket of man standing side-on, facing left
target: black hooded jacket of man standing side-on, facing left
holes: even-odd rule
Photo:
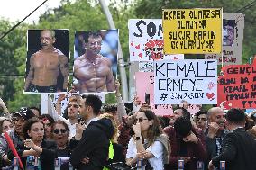
[[[84,130],[82,139],[72,151],[70,162],[78,170],[102,170],[108,158],[109,139],[113,136],[114,126],[109,119],[92,121]],[[71,148],[72,149],[72,148]],[[89,162],[83,164],[83,158]]]

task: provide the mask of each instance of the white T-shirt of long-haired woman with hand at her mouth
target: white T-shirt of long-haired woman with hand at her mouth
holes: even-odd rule
[[[149,158],[149,162],[151,164],[151,167],[154,170],[164,170],[164,165],[163,165],[163,150],[164,147],[160,141],[155,141],[151,147],[147,148],[146,150],[151,152],[151,154],[154,157]],[[133,143],[133,137],[130,139],[128,143],[128,149],[127,149],[127,154],[126,158],[134,158],[136,157],[137,154],[137,148],[136,148],[136,140]],[[142,167],[142,169],[145,169],[145,165]]]

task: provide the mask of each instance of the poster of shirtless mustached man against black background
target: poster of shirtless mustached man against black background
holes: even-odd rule
[[[28,41],[32,40],[32,35],[36,35],[35,30],[29,31],[32,32],[28,32]],[[64,31],[62,35],[61,31]],[[57,49],[57,46],[64,46],[61,47],[61,49],[68,48],[68,50],[65,51],[66,53],[69,51],[69,31],[68,33],[67,31],[68,30],[58,30],[59,35],[61,35],[59,44],[55,44],[58,39],[55,31],[40,31],[41,49],[37,50],[27,59],[27,62],[29,61],[27,70],[29,71],[25,78],[24,92],[57,93],[67,91],[69,76],[69,58],[67,55],[69,55],[69,52],[65,55],[61,50]],[[34,45],[36,44],[34,40],[33,37],[32,42],[28,42],[28,56],[29,51],[31,52],[37,48],[37,45]],[[54,47],[53,44],[56,45],[56,47]]]

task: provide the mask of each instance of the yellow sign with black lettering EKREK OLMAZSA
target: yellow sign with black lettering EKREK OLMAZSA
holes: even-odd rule
[[[164,54],[220,54],[222,9],[164,9]]]

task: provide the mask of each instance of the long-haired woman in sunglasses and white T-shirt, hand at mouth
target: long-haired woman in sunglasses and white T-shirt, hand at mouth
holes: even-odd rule
[[[140,110],[128,144],[126,164],[142,170],[163,170],[168,161],[168,137],[162,134],[160,121],[151,110]]]

